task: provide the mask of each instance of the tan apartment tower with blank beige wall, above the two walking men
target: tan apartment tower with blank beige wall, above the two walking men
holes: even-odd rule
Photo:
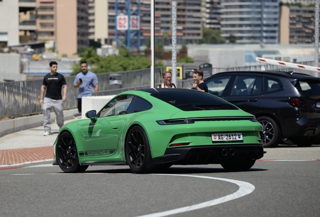
[[[38,41],[52,41],[56,52],[72,56],[89,47],[88,0],[37,0]]]

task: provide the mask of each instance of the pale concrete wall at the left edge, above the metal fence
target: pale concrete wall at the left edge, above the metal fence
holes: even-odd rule
[[[20,54],[0,53],[0,82],[26,80],[20,73]]]

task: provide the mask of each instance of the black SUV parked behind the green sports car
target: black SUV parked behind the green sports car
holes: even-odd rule
[[[256,116],[264,127],[264,147],[282,139],[298,146],[318,142],[320,78],[293,72],[234,71],[206,78],[209,93]]]

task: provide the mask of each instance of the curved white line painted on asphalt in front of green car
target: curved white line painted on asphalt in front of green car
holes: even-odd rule
[[[146,214],[146,215],[139,215],[137,217],[161,217],[161,216],[168,216],[168,215],[178,214],[178,213],[192,211],[192,210],[196,210],[196,209],[201,209],[201,208],[217,205],[220,203],[224,203],[224,202],[245,196],[255,190],[254,185],[252,185],[248,182],[238,181],[238,180],[233,180],[233,179],[216,178],[216,177],[210,177],[210,176],[197,176],[197,175],[177,175],[177,174],[152,174],[152,175],[172,175],[172,176],[188,176],[188,177],[196,177],[196,178],[216,179],[216,180],[234,183],[239,186],[239,189],[232,194],[229,194],[229,195],[217,198],[217,199],[209,200],[209,201],[198,203],[195,205],[171,209],[168,211],[155,212],[155,213]]]

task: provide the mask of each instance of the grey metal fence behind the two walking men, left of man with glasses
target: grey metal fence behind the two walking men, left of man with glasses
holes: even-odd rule
[[[155,68],[156,82],[161,82],[164,70],[164,67]],[[122,76],[123,88],[150,85],[150,68],[117,73]],[[109,89],[109,74],[97,74],[100,90]],[[67,100],[63,103],[64,110],[77,107],[79,90],[73,88],[74,78],[75,76],[65,76],[68,92]],[[43,79],[0,83],[0,119],[41,114],[39,99],[42,81]]]

